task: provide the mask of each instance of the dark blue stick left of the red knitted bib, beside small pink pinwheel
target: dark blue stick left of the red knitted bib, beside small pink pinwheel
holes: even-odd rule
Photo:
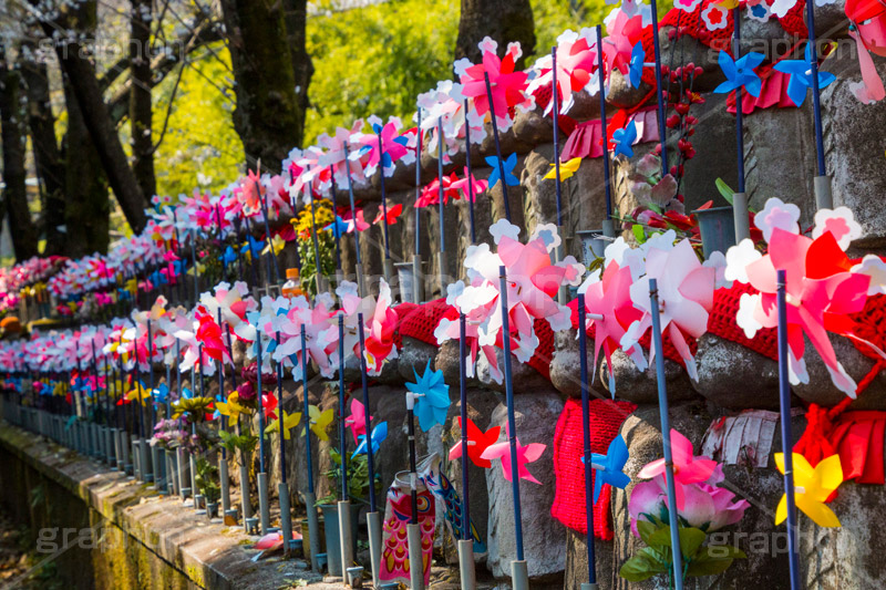
[[[502,176],[504,178],[504,176]],[[514,500],[514,540],[517,559],[511,562],[512,584],[515,589],[528,589],[528,571],[523,552],[523,520],[519,509],[519,463],[517,460],[517,424],[514,415],[514,383],[511,375],[511,320],[507,307],[507,271],[498,267],[498,292],[502,302],[502,342],[504,344],[505,403],[507,404],[507,432],[511,445],[511,490]],[[463,427],[465,427],[463,425]]]

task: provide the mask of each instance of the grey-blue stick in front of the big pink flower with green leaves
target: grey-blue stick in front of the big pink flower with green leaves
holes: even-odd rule
[[[652,0],[655,7],[655,0]],[[652,18],[655,19],[655,8]],[[661,415],[661,442],[664,451],[664,479],[668,493],[668,519],[671,534],[671,556],[673,558],[673,587],[683,588],[682,553],[680,552],[680,529],[677,521],[677,488],[673,480],[673,457],[671,455],[671,426],[668,416],[668,386],[664,382],[664,346],[661,342],[661,318],[659,317],[658,280],[649,279],[649,300],[652,310],[652,344],[656,351],[656,379],[658,381],[658,411]],[[579,306],[580,307],[580,306]],[[587,465],[586,468],[590,468]]]

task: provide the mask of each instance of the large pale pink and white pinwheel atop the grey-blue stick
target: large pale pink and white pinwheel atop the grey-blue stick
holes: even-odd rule
[[[666,248],[669,246],[669,242],[664,242]],[[630,286],[631,301],[642,311],[642,317],[628,327],[621,338],[621,348],[628,350],[637,345],[640,337],[652,325],[649,279],[657,279],[661,332],[670,337],[687,373],[698,381],[696,359],[684,334],[699,338],[708,330],[708,313],[713,307],[717,269],[699,262],[688,239],[681,240],[669,250],[650,247],[646,256],[646,276]],[[655,353],[655,348],[650,349],[650,363]]]

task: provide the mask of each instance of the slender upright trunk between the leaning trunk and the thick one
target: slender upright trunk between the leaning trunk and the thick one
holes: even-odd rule
[[[130,8],[130,133],[132,172],[145,198],[157,192],[154,177],[154,144],[151,135],[151,4],[132,0]]]

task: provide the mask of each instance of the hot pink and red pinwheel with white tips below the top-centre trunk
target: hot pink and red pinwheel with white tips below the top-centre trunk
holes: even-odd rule
[[[501,131],[507,131],[514,122],[511,108],[530,108],[534,104],[532,96],[526,96],[523,89],[526,84],[526,72],[515,72],[516,61],[523,55],[519,43],[508,43],[504,59],[498,59],[496,51],[498,43],[486,37],[477,46],[483,53],[483,62],[477,65],[467,65],[464,62],[455,63],[456,74],[462,82],[462,94],[474,100],[477,114],[495,113]],[[490,77],[487,92],[485,75]]]

